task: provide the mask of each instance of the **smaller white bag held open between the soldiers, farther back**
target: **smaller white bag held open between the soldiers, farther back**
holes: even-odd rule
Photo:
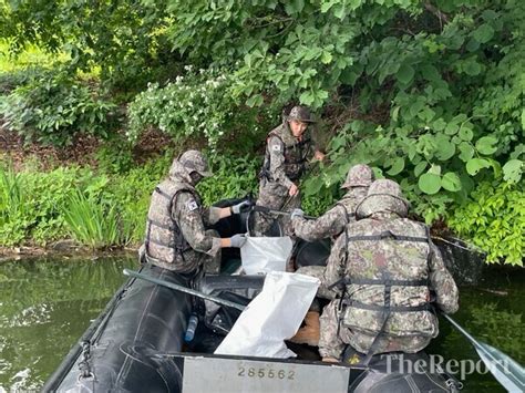
[[[240,248],[243,269],[247,275],[285,271],[294,242],[285,237],[247,237]]]

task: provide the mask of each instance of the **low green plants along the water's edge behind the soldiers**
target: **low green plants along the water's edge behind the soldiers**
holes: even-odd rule
[[[60,166],[49,172],[16,173],[0,165],[0,255],[103,252],[137,249],[145,230],[150,197],[166,176],[171,151],[122,173],[89,166]],[[260,158],[210,157],[214,176],[198,186],[205,205],[225,198],[256,196]],[[316,168],[306,182],[319,180]],[[334,187],[339,189],[338,185]],[[524,200],[518,186],[485,182],[472,200],[453,208],[434,231],[452,231],[487,252],[487,262],[521,266]],[[321,215],[334,194],[306,195],[303,208]],[[410,195],[409,195],[410,197]],[[418,200],[414,211],[418,211]],[[414,213],[412,213],[414,214]],[[421,217],[419,217],[421,218]]]

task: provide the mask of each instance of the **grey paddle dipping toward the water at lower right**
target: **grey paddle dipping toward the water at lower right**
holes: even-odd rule
[[[508,392],[524,392],[525,391],[525,372],[516,361],[511,359],[505,353],[496,350],[484,342],[477,341],[465,329],[463,329],[456,321],[446,314],[442,314],[449,322],[451,322],[464,337],[469,339],[474,345],[481,360],[486,364],[488,370],[495,376],[503,387]]]

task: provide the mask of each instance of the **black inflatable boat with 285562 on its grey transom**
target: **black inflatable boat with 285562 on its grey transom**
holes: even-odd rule
[[[243,220],[223,220],[223,236],[243,231]],[[301,255],[303,257],[301,257]],[[327,255],[325,244],[298,247],[297,259]],[[223,256],[231,271],[238,255]],[[227,262],[227,263],[226,263]],[[228,265],[229,263],[229,265]],[[308,262],[306,262],[308,263]],[[176,285],[184,277],[145,265],[141,272]],[[205,293],[247,304],[261,289],[261,276],[206,276],[193,286]],[[214,355],[240,311],[131,278],[71,349],[43,386],[44,392],[453,392],[440,373],[399,372],[397,354],[377,355],[367,369],[322,363],[317,349],[287,343],[295,360]],[[198,316],[186,343],[188,320]],[[351,354],[348,354],[349,358]],[[426,360],[425,353],[410,355]],[[406,358],[405,358],[406,359]],[[426,362],[428,364],[428,362]]]

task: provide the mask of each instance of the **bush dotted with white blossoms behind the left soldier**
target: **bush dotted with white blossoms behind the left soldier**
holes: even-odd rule
[[[219,141],[251,153],[268,130],[267,112],[240,105],[229,90],[231,73],[209,69],[177,76],[165,86],[151,84],[128,106],[128,132],[136,141],[148,126],[158,127],[175,141],[204,136],[212,149]],[[274,113],[274,116],[277,114]]]

